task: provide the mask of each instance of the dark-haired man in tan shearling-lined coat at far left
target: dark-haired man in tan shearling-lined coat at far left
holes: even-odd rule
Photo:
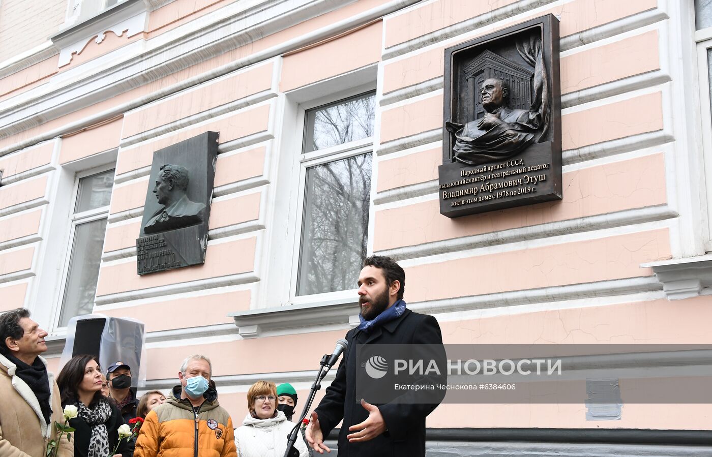
[[[0,315],[0,456],[45,457],[63,424],[57,383],[40,357],[47,332],[24,308]],[[56,457],[74,456],[74,443],[63,436]]]

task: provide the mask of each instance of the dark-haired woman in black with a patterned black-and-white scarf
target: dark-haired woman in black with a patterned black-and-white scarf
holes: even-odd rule
[[[77,406],[78,416],[69,420],[74,432],[75,457],[108,457],[119,441],[118,429],[124,424],[119,410],[101,394],[101,369],[93,355],[77,355],[64,366],[57,378],[62,406]],[[115,457],[127,456],[122,440]]]

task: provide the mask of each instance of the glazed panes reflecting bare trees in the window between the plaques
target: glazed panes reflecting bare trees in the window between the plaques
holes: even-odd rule
[[[367,252],[375,92],[305,111],[295,293],[355,288]]]

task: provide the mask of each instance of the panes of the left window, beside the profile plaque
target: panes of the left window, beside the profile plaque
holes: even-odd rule
[[[72,317],[89,314],[94,308],[113,184],[113,169],[77,180],[57,327],[66,327]]]

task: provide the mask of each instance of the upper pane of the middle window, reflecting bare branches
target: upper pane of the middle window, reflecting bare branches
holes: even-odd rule
[[[304,152],[373,136],[375,93],[326,105],[307,113]]]

